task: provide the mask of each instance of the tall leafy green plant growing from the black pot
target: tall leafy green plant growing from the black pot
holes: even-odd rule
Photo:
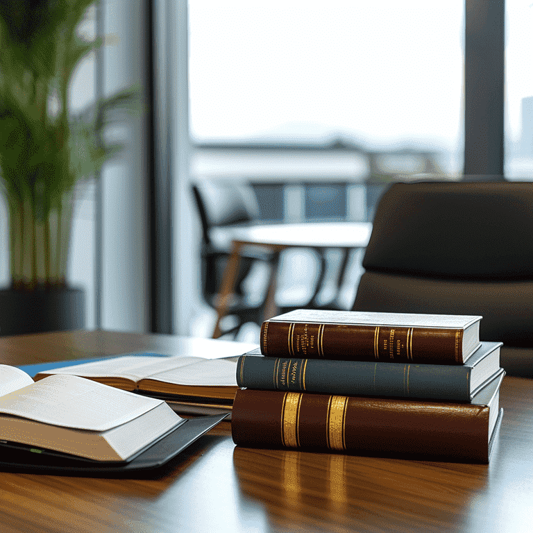
[[[78,27],[94,0],[0,0],[0,179],[12,287],[65,287],[74,187],[121,144],[101,134],[138,108],[129,89],[69,112],[69,82],[101,46]]]

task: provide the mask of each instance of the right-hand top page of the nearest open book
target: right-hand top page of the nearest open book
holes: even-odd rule
[[[65,428],[105,431],[160,405],[75,375],[51,375],[0,398],[0,413]],[[177,415],[176,415],[177,416]]]

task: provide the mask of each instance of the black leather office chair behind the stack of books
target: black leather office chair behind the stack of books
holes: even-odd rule
[[[533,378],[533,183],[396,183],[353,310],[481,315],[508,375]]]

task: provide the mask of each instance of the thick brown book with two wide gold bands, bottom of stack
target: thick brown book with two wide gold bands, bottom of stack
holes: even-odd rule
[[[470,403],[239,389],[237,446],[338,450],[488,463],[503,409],[504,374]]]

